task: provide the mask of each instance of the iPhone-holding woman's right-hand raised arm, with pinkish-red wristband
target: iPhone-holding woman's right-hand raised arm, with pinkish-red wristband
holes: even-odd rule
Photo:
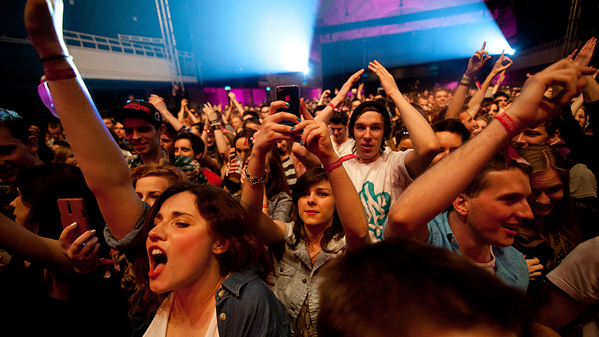
[[[316,155],[325,167],[326,175],[329,178],[329,183],[331,183],[335,198],[337,214],[345,231],[347,249],[358,250],[370,244],[368,218],[366,217],[364,206],[345,168],[340,162],[337,162],[339,157],[333,150],[328,127],[326,127],[324,122],[319,122],[311,118],[303,101],[301,102],[301,107],[305,120],[299,123],[296,129],[304,130],[302,133],[302,144],[311,153]]]

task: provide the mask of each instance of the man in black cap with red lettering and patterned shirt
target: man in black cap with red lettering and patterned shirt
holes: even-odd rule
[[[122,123],[125,139],[137,152],[128,160],[129,169],[143,164],[177,166],[190,180],[207,183],[198,161],[189,157],[174,156],[160,146],[160,135],[164,132],[162,115],[149,102],[133,99],[125,107],[110,111],[117,122]]]

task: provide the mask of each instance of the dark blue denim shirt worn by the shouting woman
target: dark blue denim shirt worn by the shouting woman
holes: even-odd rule
[[[140,238],[143,223],[149,214],[150,207],[144,202],[144,212],[135,228],[120,240],[116,240],[110,229],[104,229],[108,244],[118,250],[132,253],[144,242]],[[143,245],[145,248],[145,245]],[[291,336],[289,317],[285,306],[268,289],[256,269],[247,267],[231,273],[220,284],[214,294],[216,298],[216,318],[220,337],[232,336]],[[154,318],[147,316],[135,306],[129,312],[134,336],[141,336]]]

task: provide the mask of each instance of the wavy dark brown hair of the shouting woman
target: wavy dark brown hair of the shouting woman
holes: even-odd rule
[[[195,206],[208,225],[210,238],[229,244],[225,252],[216,256],[220,275],[227,275],[255,265],[261,268],[262,278],[270,272],[266,251],[252,232],[252,223],[246,210],[231,195],[209,184],[178,183],[162,192],[146,218],[143,238],[147,238],[150,229],[154,226],[154,218],[158,215],[162,204],[171,196],[183,192],[195,196]],[[147,277],[149,259],[147,251],[143,248],[135,253],[133,271],[137,276],[135,281],[138,283],[138,290],[134,297],[141,296],[140,308],[147,312],[155,311],[161,299],[164,299],[164,295],[159,296],[150,291],[150,280]]]

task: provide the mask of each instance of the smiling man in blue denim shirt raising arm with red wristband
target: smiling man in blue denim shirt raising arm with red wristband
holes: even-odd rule
[[[556,105],[568,104],[585,84],[581,72],[591,71],[561,60],[529,78],[509,109],[410,184],[391,207],[385,238],[447,248],[509,286],[527,289],[527,262],[512,244],[522,221],[533,218],[528,168],[497,152],[522,130],[549,119]],[[544,99],[556,83],[567,89]]]

